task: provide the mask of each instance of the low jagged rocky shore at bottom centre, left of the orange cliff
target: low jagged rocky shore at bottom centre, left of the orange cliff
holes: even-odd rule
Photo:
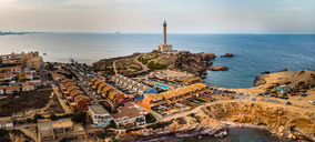
[[[226,124],[207,116],[202,111],[159,123],[160,124],[153,124],[155,126],[149,125],[145,126],[145,129],[130,131],[124,135],[124,140],[133,139],[134,141],[161,141],[165,136],[189,138],[213,135],[222,138],[227,134]],[[156,128],[156,125],[160,126]],[[134,133],[136,133],[136,135]]]

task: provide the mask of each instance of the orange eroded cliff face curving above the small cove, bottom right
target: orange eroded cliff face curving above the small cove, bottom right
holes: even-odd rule
[[[287,139],[307,136],[315,141],[315,114],[309,111],[250,102],[217,103],[206,109],[221,121],[264,125]]]

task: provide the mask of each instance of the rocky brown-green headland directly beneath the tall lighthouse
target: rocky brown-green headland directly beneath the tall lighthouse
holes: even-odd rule
[[[174,70],[201,75],[211,64],[210,60],[216,58],[213,53],[191,53],[177,51],[172,53],[134,53],[128,57],[102,59],[93,63],[96,72],[113,74],[114,68],[124,75],[145,74],[154,70]],[[114,67],[115,65],[115,67]]]

